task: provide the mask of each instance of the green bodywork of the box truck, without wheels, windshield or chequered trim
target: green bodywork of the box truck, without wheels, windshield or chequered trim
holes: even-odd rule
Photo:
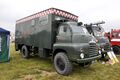
[[[67,22],[58,22],[56,21],[58,18],[67,20]],[[79,63],[90,62],[100,58],[96,43],[90,43],[93,37],[86,34],[74,34],[71,22],[77,23],[77,21],[49,14],[16,24],[15,48],[20,50],[21,45],[38,47],[41,50],[38,53],[41,57],[44,54],[48,54],[44,51],[46,49],[49,50],[51,55],[64,51],[71,61]],[[61,27],[63,29],[65,27],[69,32],[60,32]],[[84,59],[80,58],[81,53],[84,53]]]

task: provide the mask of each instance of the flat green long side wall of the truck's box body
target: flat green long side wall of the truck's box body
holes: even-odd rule
[[[15,43],[51,49],[51,15],[16,24]]]

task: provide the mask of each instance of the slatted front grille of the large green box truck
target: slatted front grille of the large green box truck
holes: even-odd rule
[[[96,43],[89,43],[89,57],[94,57],[98,55],[98,50]]]

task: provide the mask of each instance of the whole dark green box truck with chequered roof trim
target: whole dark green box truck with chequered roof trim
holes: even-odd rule
[[[23,58],[51,56],[59,74],[68,75],[72,63],[90,65],[101,57],[94,38],[80,26],[78,16],[56,8],[16,21],[15,49]]]

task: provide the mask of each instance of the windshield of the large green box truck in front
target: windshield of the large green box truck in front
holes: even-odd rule
[[[86,28],[84,28],[84,27],[80,27],[80,26],[75,26],[75,25],[73,25],[73,26],[72,26],[72,30],[73,30],[73,33],[74,33],[74,34],[90,35],[90,34],[88,33],[88,31],[86,30]]]

